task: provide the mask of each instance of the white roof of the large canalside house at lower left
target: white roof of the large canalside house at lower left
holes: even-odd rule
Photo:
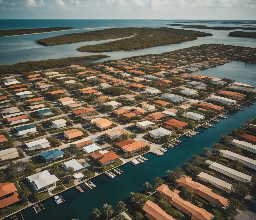
[[[51,175],[48,170],[28,176],[27,179],[29,179],[36,190],[45,188],[46,186],[59,181],[59,179],[55,175]]]

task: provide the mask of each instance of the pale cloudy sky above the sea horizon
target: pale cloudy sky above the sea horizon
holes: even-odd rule
[[[256,0],[0,0],[0,19],[255,20]]]

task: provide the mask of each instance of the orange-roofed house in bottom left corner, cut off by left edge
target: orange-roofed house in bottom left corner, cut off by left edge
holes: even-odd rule
[[[20,201],[17,191],[14,183],[0,183],[0,209]]]

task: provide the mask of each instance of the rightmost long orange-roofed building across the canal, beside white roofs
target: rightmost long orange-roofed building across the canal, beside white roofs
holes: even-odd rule
[[[176,180],[176,182],[178,183],[177,186],[191,189],[194,193],[218,207],[226,207],[228,205],[228,200],[226,198],[212,192],[212,189],[193,181],[192,178],[188,176],[180,176],[180,179]]]

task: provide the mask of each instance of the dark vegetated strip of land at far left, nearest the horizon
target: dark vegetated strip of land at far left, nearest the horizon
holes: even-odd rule
[[[72,29],[71,27],[50,27],[50,28],[31,28],[31,29],[14,29],[14,30],[0,30],[0,37],[15,36],[22,34],[45,33],[51,31],[63,31]]]

